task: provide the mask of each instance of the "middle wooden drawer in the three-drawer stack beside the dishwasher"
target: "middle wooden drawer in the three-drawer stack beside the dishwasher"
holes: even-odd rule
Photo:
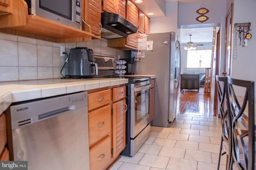
[[[106,106],[88,113],[89,145],[110,134],[111,107]]]

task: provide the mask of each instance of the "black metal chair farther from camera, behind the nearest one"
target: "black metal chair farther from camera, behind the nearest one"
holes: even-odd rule
[[[222,135],[221,135],[221,143],[220,143],[220,154],[218,161],[218,170],[220,168],[220,158],[224,154],[228,154],[227,156],[227,164],[226,167],[229,168],[231,162],[231,154],[232,154],[232,143],[231,143],[231,123],[232,117],[230,115],[230,107],[228,103],[228,84],[227,77],[216,76],[216,82],[218,86],[218,110],[220,113],[221,125],[222,125]],[[227,99],[226,99],[227,98]],[[225,102],[227,101],[227,102]],[[222,153],[222,149],[226,150]]]

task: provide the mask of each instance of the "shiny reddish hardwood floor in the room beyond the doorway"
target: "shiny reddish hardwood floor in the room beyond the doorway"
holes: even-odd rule
[[[210,96],[204,96],[204,88],[178,92],[177,114],[214,116],[213,102]]]

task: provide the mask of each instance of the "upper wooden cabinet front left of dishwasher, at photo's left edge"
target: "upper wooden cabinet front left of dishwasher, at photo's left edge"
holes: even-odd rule
[[[7,135],[6,135],[6,117],[5,114],[0,116],[0,154],[4,149],[7,142]]]

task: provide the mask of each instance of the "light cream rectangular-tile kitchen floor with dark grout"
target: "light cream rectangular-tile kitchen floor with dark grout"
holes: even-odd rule
[[[121,156],[110,170],[217,170],[220,134],[216,117],[178,115],[171,127],[151,126],[135,156]],[[220,162],[225,168],[226,154]]]

